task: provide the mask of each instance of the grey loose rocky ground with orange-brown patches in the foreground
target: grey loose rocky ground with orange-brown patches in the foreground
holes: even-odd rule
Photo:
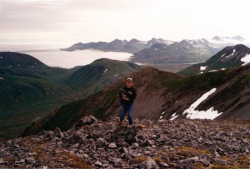
[[[0,168],[250,168],[250,120],[81,119],[0,143]]]

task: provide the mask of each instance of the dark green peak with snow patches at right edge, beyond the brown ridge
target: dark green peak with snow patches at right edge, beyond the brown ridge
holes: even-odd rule
[[[248,47],[242,44],[228,46],[219,51],[216,55],[212,56],[206,62],[190,66],[178,72],[178,74],[187,76],[209,71],[228,69],[248,64],[249,60],[250,49]]]

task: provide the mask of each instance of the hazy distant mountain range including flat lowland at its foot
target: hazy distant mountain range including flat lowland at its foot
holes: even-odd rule
[[[161,69],[178,72],[194,63],[204,62],[226,46],[244,44],[240,36],[218,37],[212,39],[184,39],[180,42],[164,39],[140,41],[137,39],[119,40],[112,42],[77,43],[61,50],[101,50],[112,52],[133,53],[130,61]]]

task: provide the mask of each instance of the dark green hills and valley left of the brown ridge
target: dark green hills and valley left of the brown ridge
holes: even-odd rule
[[[53,109],[106,88],[141,67],[99,59],[62,69],[21,53],[0,52],[0,140],[18,136]]]

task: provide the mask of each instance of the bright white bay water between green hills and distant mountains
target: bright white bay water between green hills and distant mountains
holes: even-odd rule
[[[109,58],[112,60],[128,61],[131,53],[122,52],[102,52],[96,50],[78,50],[73,52],[51,50],[23,51],[31,55],[50,67],[73,68],[92,63],[96,59]]]

